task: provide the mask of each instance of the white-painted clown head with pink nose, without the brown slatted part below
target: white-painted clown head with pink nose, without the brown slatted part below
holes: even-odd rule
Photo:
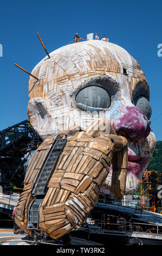
[[[138,62],[111,42],[67,45],[44,58],[30,78],[28,115],[42,138],[70,126],[85,130],[98,116],[128,140],[125,194],[134,193],[155,147],[150,129],[150,90]],[[111,189],[112,168],[105,181]]]

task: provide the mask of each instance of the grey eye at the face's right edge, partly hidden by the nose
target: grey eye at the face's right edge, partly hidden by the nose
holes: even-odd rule
[[[147,117],[149,120],[151,117],[151,105],[150,102],[143,96],[140,95],[134,100],[134,105],[138,107]]]

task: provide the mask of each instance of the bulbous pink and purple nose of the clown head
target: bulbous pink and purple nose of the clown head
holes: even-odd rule
[[[129,141],[139,141],[150,133],[150,125],[146,115],[135,106],[119,107],[120,115],[111,119],[114,130],[124,135]]]

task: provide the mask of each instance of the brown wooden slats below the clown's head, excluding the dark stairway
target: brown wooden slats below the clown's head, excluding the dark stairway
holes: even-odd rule
[[[40,207],[40,229],[53,238],[82,225],[98,201],[100,187],[109,173],[110,161],[116,161],[116,157],[118,161],[113,166],[112,190],[121,196],[125,189],[127,142],[115,134],[101,136],[105,123],[105,119],[95,120],[86,132],[77,130],[73,135],[69,135],[51,172],[48,191]],[[53,140],[49,138],[43,142],[41,150],[38,148],[36,157],[33,156],[36,163],[30,160],[31,167],[28,167],[26,185],[17,206],[17,223],[22,222],[20,225],[25,230],[28,207],[33,198],[30,191],[51,143]],[[27,195],[30,195],[30,199],[25,205],[21,204]]]

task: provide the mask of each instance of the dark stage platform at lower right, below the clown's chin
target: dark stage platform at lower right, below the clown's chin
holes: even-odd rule
[[[162,215],[119,202],[99,202],[72,235],[110,246],[162,245]]]

